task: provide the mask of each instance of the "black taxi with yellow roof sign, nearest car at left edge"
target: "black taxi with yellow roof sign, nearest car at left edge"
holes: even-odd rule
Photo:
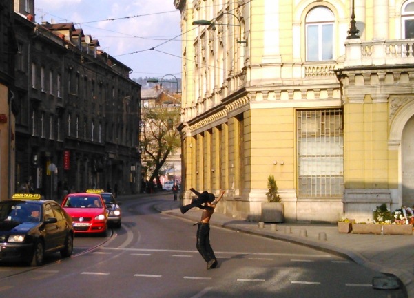
[[[72,218],[53,200],[40,199],[24,193],[0,202],[0,262],[40,266],[45,253],[72,255]]]

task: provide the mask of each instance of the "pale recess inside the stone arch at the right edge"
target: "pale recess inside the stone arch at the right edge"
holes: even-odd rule
[[[402,205],[414,206],[414,116],[406,122],[401,136]]]

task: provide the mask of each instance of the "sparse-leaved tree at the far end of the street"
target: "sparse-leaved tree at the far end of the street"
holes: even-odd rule
[[[170,153],[181,145],[180,134],[176,127],[180,122],[180,108],[168,106],[146,107],[141,117],[141,148],[145,161],[144,170],[149,181],[154,181],[162,188],[160,171]]]

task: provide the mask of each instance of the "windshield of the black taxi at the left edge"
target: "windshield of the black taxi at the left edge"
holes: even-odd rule
[[[39,222],[41,206],[30,202],[0,204],[0,220],[14,222]]]

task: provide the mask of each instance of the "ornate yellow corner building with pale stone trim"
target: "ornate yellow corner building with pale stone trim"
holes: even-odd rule
[[[174,3],[185,200],[260,220],[274,175],[287,221],[414,205],[414,0]]]

